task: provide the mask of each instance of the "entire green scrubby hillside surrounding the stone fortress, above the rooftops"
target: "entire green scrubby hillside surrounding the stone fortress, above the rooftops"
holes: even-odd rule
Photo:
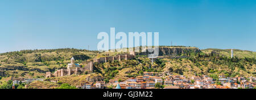
[[[142,75],[143,72],[167,72],[186,77],[200,75],[253,76],[256,75],[255,52],[234,50],[234,58],[230,58],[230,49],[205,49],[185,46],[160,46],[160,56],[186,56],[179,59],[151,59],[147,52],[137,53],[134,59],[114,60],[114,62],[94,63],[94,73],[76,76],[53,77],[48,80],[59,80],[72,86],[82,82],[95,82],[110,79],[126,80],[129,77]],[[102,56],[112,56],[123,52],[99,52],[79,49],[22,50],[0,54],[0,85],[11,77],[44,78],[47,71],[54,72],[67,68],[72,56],[76,63],[84,64],[88,60]],[[43,85],[43,86],[40,86]],[[31,88],[57,88],[52,82],[32,82]]]

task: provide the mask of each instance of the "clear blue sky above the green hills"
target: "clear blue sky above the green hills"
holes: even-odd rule
[[[97,50],[97,34],[110,27],[159,32],[159,45],[256,51],[256,1],[0,1],[0,53]]]

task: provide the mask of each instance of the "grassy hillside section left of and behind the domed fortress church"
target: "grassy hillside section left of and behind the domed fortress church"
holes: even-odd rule
[[[79,49],[22,50],[0,54],[2,77],[44,77],[44,73],[65,68],[74,56],[76,63],[94,58],[98,51]]]

